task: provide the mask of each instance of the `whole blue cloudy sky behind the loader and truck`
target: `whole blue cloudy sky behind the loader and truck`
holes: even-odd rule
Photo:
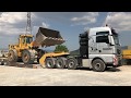
[[[16,44],[25,34],[27,12],[0,12],[0,48]],[[79,34],[91,27],[109,26],[119,33],[122,46],[131,46],[130,12],[32,12],[33,35],[39,26],[59,30],[69,50],[79,49]],[[49,47],[46,49],[55,49]]]

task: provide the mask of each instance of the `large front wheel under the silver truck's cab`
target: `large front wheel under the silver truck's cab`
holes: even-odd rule
[[[102,61],[100,59],[94,60],[92,65],[93,65],[93,70],[96,72],[104,72],[106,69],[104,61]]]

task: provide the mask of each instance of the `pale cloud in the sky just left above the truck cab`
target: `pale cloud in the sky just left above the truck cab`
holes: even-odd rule
[[[73,25],[86,25],[97,21],[98,12],[86,12],[83,16],[72,17]]]

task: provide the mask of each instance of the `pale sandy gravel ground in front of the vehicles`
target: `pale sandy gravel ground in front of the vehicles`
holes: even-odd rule
[[[131,86],[131,65],[105,72],[0,65],[0,86]]]

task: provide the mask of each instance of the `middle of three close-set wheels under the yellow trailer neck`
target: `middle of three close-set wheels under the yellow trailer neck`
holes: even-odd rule
[[[56,68],[57,69],[64,69],[67,64],[67,59],[63,57],[60,57],[56,60]]]

